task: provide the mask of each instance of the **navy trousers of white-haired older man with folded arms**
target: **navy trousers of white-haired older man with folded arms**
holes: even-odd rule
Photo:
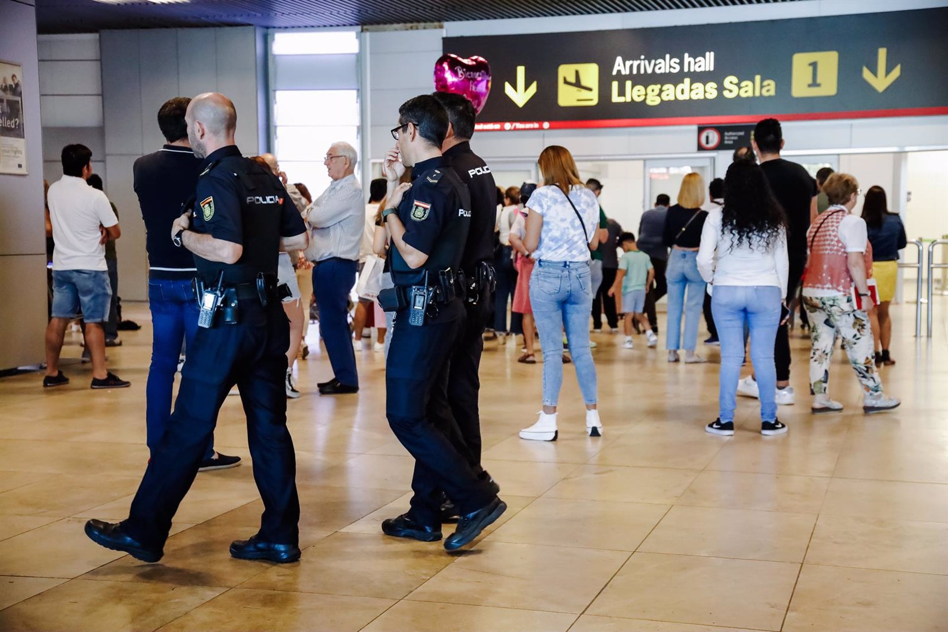
[[[313,268],[313,294],[319,305],[319,335],[329,353],[333,375],[347,387],[358,386],[356,352],[349,333],[349,292],[356,284],[358,262],[327,259]],[[359,333],[361,334],[361,333]]]

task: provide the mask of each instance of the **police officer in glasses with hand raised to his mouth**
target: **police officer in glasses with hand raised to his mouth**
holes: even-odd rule
[[[472,469],[449,412],[432,414],[448,406],[447,368],[464,330],[464,285],[455,274],[467,241],[470,198],[441,153],[448,121],[438,101],[415,97],[398,114],[399,125],[392,130],[397,144],[384,163],[388,208],[382,211],[392,236],[395,287],[379,302],[395,311],[386,413],[395,436],[415,458],[415,469],[409,512],[385,520],[382,531],[440,540],[444,490],[460,514],[457,530],[445,540],[445,549],[454,551],[507,508]],[[399,185],[406,166],[413,167],[411,184]]]

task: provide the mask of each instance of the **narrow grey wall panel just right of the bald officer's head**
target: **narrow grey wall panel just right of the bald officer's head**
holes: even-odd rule
[[[254,27],[215,28],[217,32],[217,90],[237,108],[237,146],[258,153],[257,55]]]

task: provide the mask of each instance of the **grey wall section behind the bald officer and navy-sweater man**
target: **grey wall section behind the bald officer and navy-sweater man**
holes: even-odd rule
[[[100,33],[102,112],[109,197],[120,214],[119,294],[148,297],[145,226],[132,185],[132,164],[165,140],[157,112],[173,97],[221,92],[237,108],[237,145],[260,152],[266,137],[262,33],[254,27],[153,28]],[[259,86],[259,88],[258,88]]]

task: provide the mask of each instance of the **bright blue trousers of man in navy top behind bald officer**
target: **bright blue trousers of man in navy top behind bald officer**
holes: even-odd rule
[[[172,389],[181,343],[188,350],[197,331],[200,309],[193,296],[190,280],[151,279],[148,304],[152,310],[152,366],[145,387],[145,425],[149,449],[154,453],[172,416]],[[214,437],[204,450],[204,458],[214,456]]]

